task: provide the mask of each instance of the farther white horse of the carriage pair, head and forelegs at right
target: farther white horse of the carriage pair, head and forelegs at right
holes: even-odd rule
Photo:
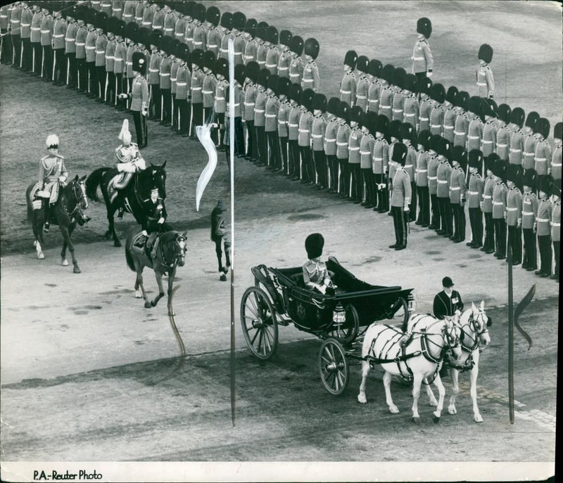
[[[469,371],[471,378],[471,399],[473,400],[473,420],[475,423],[483,423],[483,417],[477,406],[477,375],[479,375],[479,347],[481,344],[487,346],[491,343],[488,335],[488,326],[491,326],[491,318],[485,313],[485,302],[481,300],[479,308],[472,302],[471,309],[464,311],[457,322],[462,330],[460,337],[462,343],[462,356],[457,363],[446,363],[450,378],[452,378],[453,394],[450,397],[448,413],[457,414],[455,409],[455,397],[460,392],[457,378],[461,371]]]

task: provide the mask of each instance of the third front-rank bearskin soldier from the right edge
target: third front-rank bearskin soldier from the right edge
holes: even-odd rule
[[[519,165],[510,165],[521,168]],[[524,235],[524,257],[522,258],[522,268],[534,271],[538,268],[536,254],[536,215],[538,213],[538,175],[535,169],[527,169],[524,172],[522,184],[524,194],[522,195],[522,234]]]

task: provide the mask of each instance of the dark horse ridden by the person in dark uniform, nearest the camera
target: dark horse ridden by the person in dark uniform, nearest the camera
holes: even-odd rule
[[[163,275],[168,275],[168,315],[174,316],[172,310],[172,283],[176,275],[177,266],[184,266],[184,257],[186,256],[186,238],[187,231],[179,233],[178,231],[167,231],[160,234],[160,242],[156,249],[156,256],[150,259],[146,254],[145,247],[134,245],[139,233],[132,231],[127,236],[125,242],[125,258],[127,259],[127,266],[129,269],[137,272],[137,279],[135,280],[135,297],[143,297],[145,300],[146,309],[156,307],[158,301],[164,297],[163,289]],[[148,300],[144,286],[143,286],[143,269],[145,266],[153,269],[156,282],[158,283],[158,295],[151,302]],[[141,292],[139,292],[139,287]]]

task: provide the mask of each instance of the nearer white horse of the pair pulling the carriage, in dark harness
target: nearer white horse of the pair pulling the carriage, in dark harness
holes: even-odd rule
[[[431,395],[431,406],[437,406],[434,411],[434,422],[438,423],[445,397],[445,389],[438,370],[445,352],[453,352],[455,359],[461,356],[461,329],[451,320],[440,320],[430,315],[412,315],[408,326],[410,337],[406,344],[400,343],[405,334],[399,328],[378,323],[369,326],[362,345],[364,361],[362,361],[362,384],[358,401],[362,404],[367,403],[365,382],[370,364],[381,364],[385,371],[383,384],[389,411],[393,414],[399,412],[399,408],[393,404],[393,399],[391,399],[391,375],[412,378],[412,420],[419,423],[420,385],[422,380],[434,377],[439,400],[436,401],[428,387],[426,392],[429,396]]]

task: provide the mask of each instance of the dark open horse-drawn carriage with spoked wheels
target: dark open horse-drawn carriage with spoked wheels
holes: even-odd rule
[[[406,326],[416,302],[412,288],[370,285],[334,257],[329,257],[327,269],[338,287],[334,295],[305,288],[301,266],[254,266],[255,285],[241,300],[241,325],[248,348],[259,359],[274,355],[280,325],[293,322],[299,330],[325,339],[320,352],[322,380],[329,392],[340,394],[348,382],[346,352],[360,342],[367,326],[385,319]],[[327,356],[330,360],[325,360]]]

